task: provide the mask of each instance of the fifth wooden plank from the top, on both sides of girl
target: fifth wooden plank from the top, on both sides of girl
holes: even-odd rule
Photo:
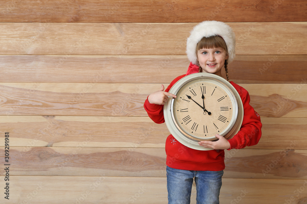
[[[262,137],[247,149],[306,150],[306,118],[262,117],[261,121]],[[0,116],[1,132],[10,133],[11,147],[24,147],[24,151],[45,146],[164,148],[170,134],[165,123],[155,124],[148,116]]]

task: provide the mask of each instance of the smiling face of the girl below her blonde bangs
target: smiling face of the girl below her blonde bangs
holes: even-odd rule
[[[223,48],[203,48],[197,51],[197,59],[203,72],[222,76],[222,68],[228,58]]]

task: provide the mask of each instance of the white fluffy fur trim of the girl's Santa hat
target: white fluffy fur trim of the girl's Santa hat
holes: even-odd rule
[[[228,51],[228,63],[231,63],[235,58],[235,33],[231,27],[220,21],[203,21],[196,25],[190,32],[191,35],[187,39],[187,55],[188,59],[197,65],[196,45],[203,37],[220,35],[226,45]]]

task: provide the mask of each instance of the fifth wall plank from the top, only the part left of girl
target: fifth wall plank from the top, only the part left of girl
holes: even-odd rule
[[[155,124],[148,116],[0,116],[0,124],[0,131],[11,133],[10,146],[25,150],[44,146],[164,147],[169,135],[165,124]]]

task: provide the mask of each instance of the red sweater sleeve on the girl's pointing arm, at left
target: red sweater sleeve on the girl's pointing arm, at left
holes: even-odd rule
[[[181,76],[178,76],[176,79],[174,79],[170,84],[169,86],[165,89],[166,92],[169,92],[169,90],[171,89],[171,87],[178,81],[180,80],[181,78],[183,78],[185,76],[184,75],[181,75]],[[158,104],[152,104],[148,101],[148,96],[147,96],[147,99],[145,100],[144,102],[144,108],[148,114],[148,116],[151,118],[151,120],[153,120],[153,122],[155,123],[164,123],[165,120],[164,120],[164,114],[163,114],[163,108],[164,108],[164,105],[158,105]]]

